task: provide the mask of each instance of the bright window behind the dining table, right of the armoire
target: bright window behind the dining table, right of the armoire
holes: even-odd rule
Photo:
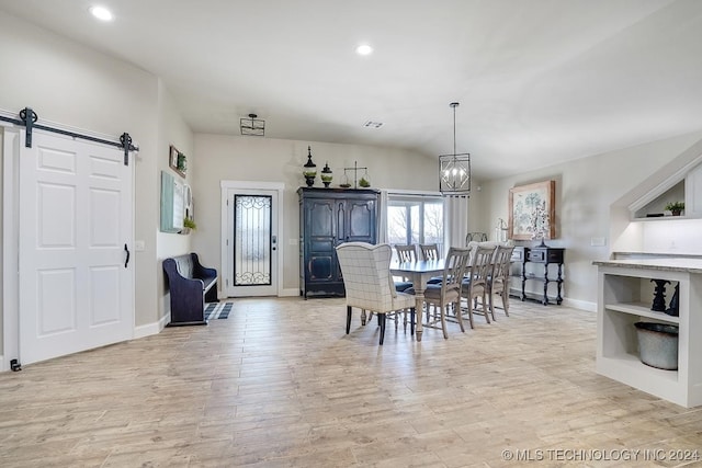
[[[387,242],[390,246],[435,243],[443,254],[443,199],[431,195],[388,194]]]

